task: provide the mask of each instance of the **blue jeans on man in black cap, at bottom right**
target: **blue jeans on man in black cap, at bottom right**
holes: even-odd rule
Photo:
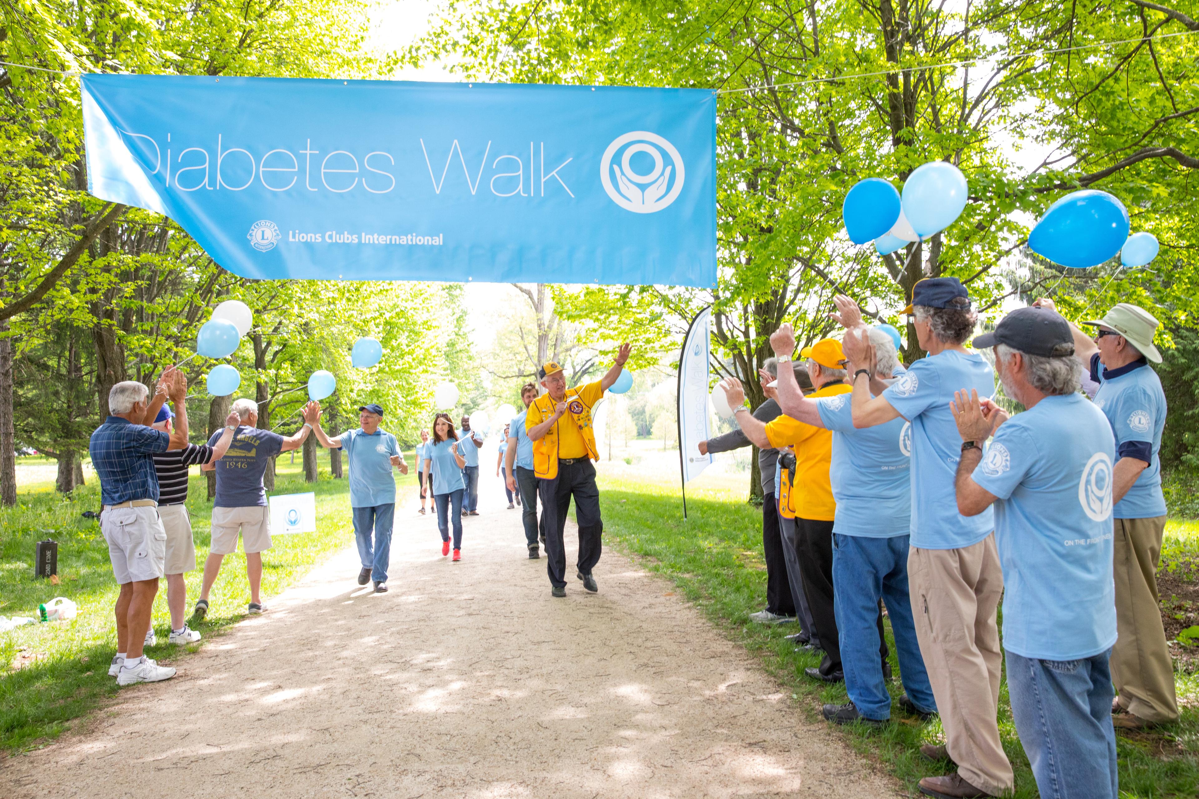
[[[1117,799],[1111,650],[1037,660],[1005,650],[1012,720],[1043,799]]]

